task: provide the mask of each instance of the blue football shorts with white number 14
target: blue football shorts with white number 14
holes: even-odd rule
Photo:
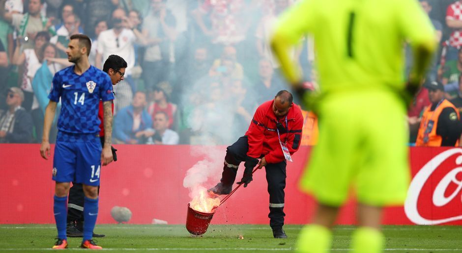
[[[101,172],[101,141],[97,134],[58,133],[53,157],[53,180],[99,185]]]

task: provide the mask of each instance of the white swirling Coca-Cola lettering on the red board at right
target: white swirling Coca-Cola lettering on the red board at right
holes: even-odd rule
[[[404,203],[404,211],[407,215],[407,218],[411,220],[413,223],[418,225],[437,225],[457,220],[462,220],[462,207],[461,207],[461,215],[456,217],[449,217],[440,220],[428,220],[422,217],[417,209],[417,201],[422,191],[422,187],[427,182],[427,180],[432,176],[433,172],[449,157],[454,154],[460,154],[456,158],[456,164],[460,166],[462,164],[462,149],[451,149],[445,152],[441,152],[440,154],[433,157],[424,167],[415,175],[412,179],[412,182],[409,186],[409,190],[407,191],[407,198],[406,202]],[[457,175],[462,173],[462,167],[457,167],[451,170],[446,176],[444,176],[441,181],[437,184],[436,188],[433,191],[433,204],[434,206],[441,207],[446,205],[447,203],[451,202],[457,194],[459,194],[462,190],[462,181],[457,179]],[[445,197],[444,193],[448,186],[454,183],[457,185],[456,190],[448,196]],[[462,199],[461,205],[462,205]]]

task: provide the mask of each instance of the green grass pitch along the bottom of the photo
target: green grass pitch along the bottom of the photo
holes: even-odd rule
[[[96,238],[110,252],[290,252],[302,226],[284,226],[288,239],[274,239],[267,225],[210,225],[193,237],[184,225],[97,225]],[[332,252],[347,252],[353,226],[334,229]],[[462,226],[384,226],[385,252],[462,252]],[[54,224],[0,225],[0,252],[49,252]],[[243,239],[239,239],[242,236]],[[66,251],[80,249],[82,238],[68,238]]]

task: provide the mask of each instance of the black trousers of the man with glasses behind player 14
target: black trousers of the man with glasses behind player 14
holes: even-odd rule
[[[100,137],[101,146],[104,146],[104,137]],[[111,147],[114,161],[117,160],[115,149]],[[98,195],[99,195],[98,186]],[[85,194],[84,187],[81,183],[72,182],[72,187],[69,189],[69,199],[67,203],[67,222],[83,222],[84,221],[84,202]]]

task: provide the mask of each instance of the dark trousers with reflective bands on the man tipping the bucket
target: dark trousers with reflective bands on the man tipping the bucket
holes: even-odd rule
[[[234,183],[237,167],[245,161],[249,143],[247,136],[240,137],[234,144],[226,149],[225,165],[223,168],[221,183],[224,187],[230,187]],[[286,188],[286,160],[279,163],[268,163],[265,166],[266,181],[269,193],[269,225],[273,229],[282,228],[284,225],[284,189]]]

